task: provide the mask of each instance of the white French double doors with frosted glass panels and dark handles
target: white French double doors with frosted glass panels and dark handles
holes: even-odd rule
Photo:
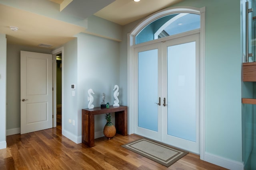
[[[199,153],[199,34],[134,51],[134,133]]]

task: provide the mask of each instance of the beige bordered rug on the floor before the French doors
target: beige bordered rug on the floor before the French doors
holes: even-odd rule
[[[188,154],[185,150],[145,138],[127,143],[122,145],[122,147],[132,150],[166,167],[171,166],[174,162]]]

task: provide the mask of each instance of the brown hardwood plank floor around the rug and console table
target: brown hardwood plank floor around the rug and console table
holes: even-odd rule
[[[62,136],[60,125],[24,135],[6,137],[0,150],[0,170],[224,170],[187,154],[169,168],[140,156],[121,145],[140,139],[136,135],[116,135],[95,140],[95,146],[76,144]]]

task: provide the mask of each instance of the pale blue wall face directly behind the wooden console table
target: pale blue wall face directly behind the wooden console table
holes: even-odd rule
[[[120,105],[124,105],[121,100],[125,98],[124,87],[119,81],[119,43],[110,39],[80,33],[78,37],[78,134],[82,131],[82,109],[88,108],[88,90],[92,88],[95,94],[94,107],[100,107],[102,102],[101,96],[106,94],[105,102],[113,105],[113,89],[117,84],[120,87]],[[114,123],[114,119],[112,120]],[[95,116],[95,132],[102,136],[106,120],[104,115]],[[97,136],[96,134],[96,136]]]

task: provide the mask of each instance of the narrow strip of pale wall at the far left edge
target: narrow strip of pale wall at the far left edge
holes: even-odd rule
[[[6,35],[0,33],[0,149],[6,148]]]

